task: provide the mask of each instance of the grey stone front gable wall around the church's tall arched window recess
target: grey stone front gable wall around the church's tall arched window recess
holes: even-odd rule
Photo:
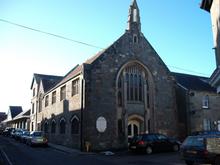
[[[125,147],[119,144],[117,136],[115,84],[118,71],[131,61],[143,64],[151,76],[152,130],[176,135],[176,101],[173,78],[147,40],[142,35],[138,40],[139,43],[133,43],[133,34],[126,32],[91,64],[90,69],[86,72],[84,133],[85,139],[92,143],[94,150]],[[135,108],[138,109],[138,106],[136,105]],[[134,112],[137,111],[137,109],[131,109]],[[144,109],[140,108],[140,114],[143,114],[143,111]],[[100,116],[107,119],[107,129],[104,133],[99,133],[95,126],[96,120]],[[127,137],[125,136],[125,138]],[[126,141],[126,139],[124,140]]]

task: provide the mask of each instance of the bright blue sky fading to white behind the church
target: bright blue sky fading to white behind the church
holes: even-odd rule
[[[201,0],[137,3],[142,33],[170,71],[212,74],[216,64],[211,19],[200,9]],[[0,0],[0,112],[9,106],[30,109],[34,73],[64,76],[110,46],[125,32],[130,4],[131,0]]]

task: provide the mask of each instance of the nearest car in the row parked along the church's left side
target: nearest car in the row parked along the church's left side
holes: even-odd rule
[[[27,137],[26,144],[33,145],[48,145],[48,139],[43,135],[42,131],[32,131],[30,135]]]

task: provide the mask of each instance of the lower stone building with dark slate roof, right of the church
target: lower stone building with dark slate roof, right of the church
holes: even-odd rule
[[[220,97],[216,88],[209,84],[209,78],[173,73],[177,81],[176,99],[180,134],[197,131],[220,131]],[[184,117],[183,117],[184,116]]]

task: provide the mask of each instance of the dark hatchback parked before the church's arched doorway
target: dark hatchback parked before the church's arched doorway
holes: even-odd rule
[[[129,144],[131,151],[142,151],[147,154],[161,151],[178,151],[180,142],[163,134],[140,134],[134,136]]]

